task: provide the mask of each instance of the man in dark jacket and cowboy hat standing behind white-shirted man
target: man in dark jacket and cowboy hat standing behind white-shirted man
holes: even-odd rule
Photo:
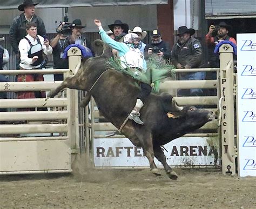
[[[23,13],[14,18],[10,27],[10,43],[12,49],[17,58],[17,69],[19,69],[19,49],[18,44],[22,38],[26,36],[26,23],[27,22],[35,22],[37,24],[37,34],[41,36],[45,36],[45,26],[43,20],[35,15],[35,5],[38,3],[34,3],[33,0],[24,0],[23,4],[18,6],[19,11],[23,11]]]

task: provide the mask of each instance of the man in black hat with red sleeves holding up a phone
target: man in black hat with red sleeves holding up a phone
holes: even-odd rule
[[[219,55],[213,53],[216,45],[222,41],[230,41],[237,45],[235,39],[227,35],[230,29],[231,25],[228,25],[225,22],[220,22],[217,26],[210,25],[209,31],[205,35],[205,42],[208,46],[208,64],[211,68],[220,67]],[[212,37],[214,31],[217,31],[217,35]],[[214,77],[216,77],[216,73]]]

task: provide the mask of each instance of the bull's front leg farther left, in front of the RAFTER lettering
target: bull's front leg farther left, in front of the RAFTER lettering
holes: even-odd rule
[[[143,151],[149,160],[150,163],[150,170],[152,173],[156,174],[157,176],[161,176],[159,173],[156,164],[154,163],[154,150],[153,150],[153,143],[152,143],[152,136],[151,134],[144,134],[142,136],[143,141]]]

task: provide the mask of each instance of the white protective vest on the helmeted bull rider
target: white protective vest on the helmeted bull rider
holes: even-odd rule
[[[120,57],[123,68],[139,68],[141,70],[146,70],[143,69],[144,56],[142,51],[140,51],[138,48],[135,49],[130,46],[129,48],[130,51],[126,52],[124,56]]]

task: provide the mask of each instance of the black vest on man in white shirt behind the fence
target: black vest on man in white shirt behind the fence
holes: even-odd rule
[[[38,59],[36,62],[32,63],[32,66],[40,65],[43,62],[43,50],[42,50],[42,44],[40,42],[40,39],[38,36],[36,36],[37,44],[33,45],[28,38],[25,37],[25,39],[29,42],[30,50],[28,51],[28,57],[33,58],[34,56],[37,56]]]

